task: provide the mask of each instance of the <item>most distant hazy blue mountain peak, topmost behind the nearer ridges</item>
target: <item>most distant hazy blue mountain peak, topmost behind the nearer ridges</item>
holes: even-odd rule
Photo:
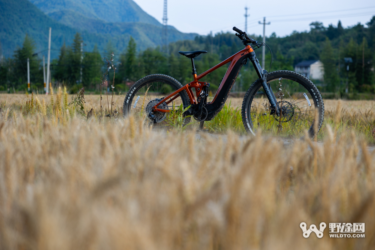
[[[56,16],[74,18],[79,13],[86,18],[105,22],[142,22],[162,26],[132,0],[30,0],[30,2],[52,18]]]

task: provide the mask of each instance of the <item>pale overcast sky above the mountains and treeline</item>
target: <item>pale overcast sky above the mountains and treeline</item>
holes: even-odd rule
[[[163,0],[133,0],[145,12],[162,22]],[[245,30],[245,6],[249,7],[248,33],[263,34],[258,21],[270,21],[266,36],[273,32],[286,36],[294,30],[310,30],[309,24],[321,21],[324,26],[341,23],[344,27],[366,24],[375,15],[374,0],[168,0],[168,25],[184,33],[206,35],[212,31]],[[367,27],[367,25],[366,25]]]

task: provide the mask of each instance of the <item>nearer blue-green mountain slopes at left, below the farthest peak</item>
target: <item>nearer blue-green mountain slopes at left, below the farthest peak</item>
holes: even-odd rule
[[[71,3],[73,4],[75,1]],[[135,3],[129,0],[129,5],[132,4]],[[54,12],[54,15],[58,15],[58,13],[61,12]],[[152,19],[144,12],[142,12],[143,14],[137,12],[138,20],[148,20],[148,22],[154,20],[156,25],[143,22],[106,22],[72,11],[67,13],[70,16],[67,16],[68,14],[61,15],[61,22],[58,22],[45,15],[30,1],[0,0],[0,42],[3,55],[12,57],[17,46],[22,46],[26,34],[34,40],[36,52],[46,49],[49,27],[52,27],[52,58],[57,58],[58,50],[64,42],[66,44],[73,42],[74,34],[77,32],[80,32],[83,37],[83,42],[86,45],[85,51],[92,51],[95,44],[101,52],[107,51],[108,48],[122,51],[126,48],[130,36],[134,37],[139,49],[162,44],[162,27],[156,19]],[[134,20],[137,19],[137,15],[134,14]],[[112,19],[109,18],[108,21],[112,21]],[[196,34],[181,33],[171,26],[169,26],[168,34],[169,41],[194,39],[196,36]]]

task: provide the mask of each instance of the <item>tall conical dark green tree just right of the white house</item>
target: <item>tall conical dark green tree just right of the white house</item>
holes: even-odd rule
[[[331,41],[326,38],[320,60],[324,64],[324,83],[328,91],[339,91],[339,75]]]

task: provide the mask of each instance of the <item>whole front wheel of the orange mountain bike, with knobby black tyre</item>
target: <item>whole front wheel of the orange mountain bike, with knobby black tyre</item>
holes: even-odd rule
[[[297,72],[279,70],[267,74],[281,108],[273,114],[260,79],[251,85],[242,103],[242,121],[248,133],[257,132],[283,139],[300,139],[308,132],[313,138],[320,130],[324,118],[324,104],[318,88]]]

